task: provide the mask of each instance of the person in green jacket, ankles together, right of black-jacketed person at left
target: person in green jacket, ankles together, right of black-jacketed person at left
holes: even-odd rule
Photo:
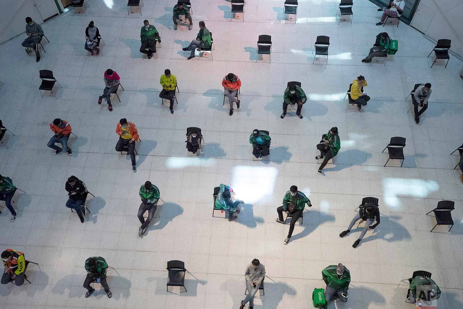
[[[138,230],[138,236],[142,237],[148,225],[150,224],[151,220],[153,219],[154,213],[156,212],[157,208],[157,201],[159,201],[159,189],[156,186],[153,186],[150,181],[145,182],[144,185],[140,187],[140,191],[138,192],[140,198],[142,199],[142,203],[140,204],[140,208],[138,208],[138,220],[142,223],[142,226]],[[146,221],[144,220],[143,214],[148,210],[148,218]]]

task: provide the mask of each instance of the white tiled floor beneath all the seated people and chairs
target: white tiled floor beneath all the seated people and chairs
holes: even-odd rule
[[[238,308],[243,299],[245,266],[258,258],[266,266],[265,296],[255,308],[311,308],[315,287],[323,287],[322,269],[342,262],[352,275],[349,302],[329,308],[413,308],[403,303],[407,284],[400,280],[414,270],[432,272],[443,291],[439,308],[463,305],[463,186],[457,156],[450,152],[462,143],[462,63],[450,57],[447,69],[427,58],[432,43],[400,23],[375,26],[380,14],[367,0],[355,1],[354,19],[333,18],[339,1],[300,0],[297,24],[278,20],[282,0],[247,0],[245,23],[226,20],[225,0],[194,1],[194,30],[173,30],[175,1],[145,0],[143,16],[127,15],[125,1],[90,0],[87,15],[74,11],[42,25],[50,43],[35,62],[20,43],[24,36],[0,45],[0,119],[15,137],[0,147],[0,173],[27,192],[18,191],[18,218],[0,216],[1,250],[14,248],[30,265],[31,285],[0,287],[0,308]],[[108,6],[112,6],[108,7]],[[139,53],[139,31],[149,19],[161,34],[158,59]],[[187,61],[181,47],[195,38],[197,23],[205,20],[213,32],[214,60]],[[100,29],[106,46],[102,55],[87,56],[84,31],[90,20]],[[360,60],[378,32],[399,40],[399,51],[386,67]],[[272,63],[255,63],[259,34],[272,36]],[[317,35],[330,36],[328,65],[311,64]],[[113,99],[113,112],[97,104],[103,72],[112,68],[125,91]],[[169,68],[181,93],[175,114],[160,105],[159,77]],[[39,69],[50,69],[63,88],[42,99]],[[232,117],[221,106],[221,80],[236,73],[242,81],[241,108]],[[362,74],[372,100],[362,113],[349,107],[345,92]],[[288,81],[302,82],[309,101],[302,114],[294,111],[281,120],[282,93]],[[429,108],[419,125],[404,98],[417,82],[431,82]],[[137,173],[130,161],[114,150],[116,123],[121,117],[138,126]],[[78,139],[69,145],[74,154],[54,156],[46,147],[48,124],[68,120]],[[184,158],[185,128],[199,126],[205,138],[204,158]],[[332,126],[338,126],[341,150],[336,164],[317,173],[315,145]],[[254,128],[270,131],[270,162],[253,162],[248,143]],[[406,159],[389,161],[381,153],[393,136],[407,138]],[[96,197],[92,212],[81,224],[64,206],[64,182],[75,175]],[[138,188],[146,180],[156,184],[163,203],[143,239],[136,217]],[[247,202],[238,220],[224,214],[211,217],[213,187],[232,186]],[[292,241],[283,245],[288,225],[275,223],[276,208],[289,186],[306,192],[313,207],[304,225],[296,224]],[[340,239],[364,196],[379,198],[381,224],[351,247],[359,232]],[[425,213],[442,199],[455,201],[455,226],[429,233],[435,219]],[[4,203],[2,202],[2,205]],[[105,257],[114,269],[103,290],[88,299],[82,283],[83,264],[91,255]],[[185,261],[188,293],[166,293],[166,261]],[[98,287],[99,288],[99,287]]]

